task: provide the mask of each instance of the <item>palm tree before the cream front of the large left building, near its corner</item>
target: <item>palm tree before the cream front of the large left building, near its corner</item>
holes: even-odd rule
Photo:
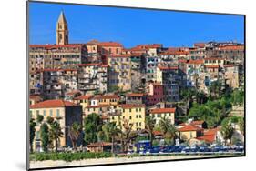
[[[53,121],[52,124],[50,124],[50,131],[49,131],[50,139],[55,141],[56,146],[56,152],[57,152],[57,144],[60,137],[63,137],[63,132],[61,130],[61,127],[57,121]]]

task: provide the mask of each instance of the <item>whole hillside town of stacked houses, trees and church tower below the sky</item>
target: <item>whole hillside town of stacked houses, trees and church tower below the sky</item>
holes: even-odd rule
[[[243,153],[242,43],[72,44],[69,28],[61,12],[56,44],[29,45],[31,154]]]

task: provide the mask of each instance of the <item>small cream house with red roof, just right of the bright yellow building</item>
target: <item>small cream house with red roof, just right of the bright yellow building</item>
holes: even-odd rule
[[[150,116],[152,116],[156,120],[156,125],[159,124],[159,120],[161,118],[169,119],[169,122],[174,125],[175,124],[175,108],[155,108],[150,111]]]

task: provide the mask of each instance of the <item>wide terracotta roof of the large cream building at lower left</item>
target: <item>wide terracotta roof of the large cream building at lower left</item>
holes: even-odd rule
[[[30,106],[30,108],[55,108],[65,106],[77,106],[77,104],[64,100],[46,100]]]

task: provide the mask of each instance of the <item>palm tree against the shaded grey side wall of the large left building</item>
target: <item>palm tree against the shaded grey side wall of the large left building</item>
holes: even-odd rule
[[[72,126],[68,126],[68,136],[71,139],[73,149],[77,150],[77,139],[81,134],[81,126],[74,122]]]

